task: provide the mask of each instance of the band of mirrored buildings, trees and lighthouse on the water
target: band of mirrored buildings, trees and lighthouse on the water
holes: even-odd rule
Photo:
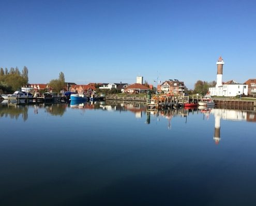
[[[145,123],[150,124],[153,120],[159,122],[160,119],[167,121],[167,129],[172,129],[172,119],[174,117],[183,117],[184,123],[188,123],[190,114],[203,114],[203,119],[207,120],[210,116],[215,117],[214,140],[216,144],[220,138],[221,119],[228,121],[247,121],[256,122],[255,111],[243,111],[218,108],[185,108],[172,110],[147,111],[146,104],[139,102],[121,102],[121,101],[102,101],[102,102],[71,102],[71,104],[40,104],[40,105],[16,105],[8,104],[8,101],[2,101],[0,104],[0,117],[10,117],[18,119],[22,116],[23,121],[28,118],[28,108],[33,108],[34,114],[47,112],[53,116],[63,116],[68,108],[79,110],[104,110],[118,112],[132,112],[134,118],[145,118]],[[42,110],[43,109],[43,110]]]

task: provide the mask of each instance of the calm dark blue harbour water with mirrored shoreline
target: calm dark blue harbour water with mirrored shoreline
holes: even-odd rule
[[[255,205],[256,113],[0,104],[0,205]]]

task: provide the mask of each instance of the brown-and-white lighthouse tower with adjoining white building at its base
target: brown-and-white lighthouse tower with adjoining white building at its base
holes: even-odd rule
[[[223,65],[224,61],[220,57],[216,62],[217,65],[217,83],[215,87],[209,88],[209,93],[212,96],[236,96],[236,95],[248,95],[248,85],[237,83],[234,80],[222,82]]]

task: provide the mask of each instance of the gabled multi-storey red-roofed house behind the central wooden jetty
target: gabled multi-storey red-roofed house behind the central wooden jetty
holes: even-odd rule
[[[164,81],[158,89],[160,89],[161,92],[172,93],[174,95],[183,95],[185,93],[184,82],[178,79]]]

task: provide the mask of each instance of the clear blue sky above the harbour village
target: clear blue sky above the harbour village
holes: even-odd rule
[[[0,1],[0,66],[29,83],[256,78],[256,1]]]

